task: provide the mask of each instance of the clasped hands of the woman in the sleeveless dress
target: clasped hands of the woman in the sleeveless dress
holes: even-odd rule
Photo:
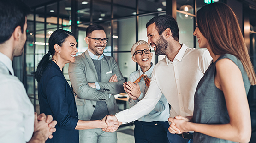
[[[188,128],[188,124],[192,121],[193,116],[183,117],[181,115],[175,116],[174,118],[169,118],[168,121],[171,122],[168,128],[169,132],[172,134],[181,134],[183,132],[191,131]]]

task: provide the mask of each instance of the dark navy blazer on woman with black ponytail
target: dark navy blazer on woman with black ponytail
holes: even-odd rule
[[[40,113],[52,115],[58,123],[46,143],[78,143],[77,106],[74,94],[59,66],[50,61],[38,82]]]

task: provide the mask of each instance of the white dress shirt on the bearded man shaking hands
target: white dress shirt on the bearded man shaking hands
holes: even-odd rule
[[[211,60],[207,50],[188,48],[182,44],[173,62],[165,56],[155,65],[144,99],[130,109],[117,113],[118,121],[129,123],[148,114],[162,94],[171,104],[170,117],[192,115],[196,86]]]

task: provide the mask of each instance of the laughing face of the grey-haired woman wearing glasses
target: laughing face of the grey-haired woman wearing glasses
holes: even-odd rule
[[[149,47],[145,44],[142,44],[137,46],[135,51],[144,50],[144,49],[149,49]],[[149,69],[151,67],[152,56],[153,56],[153,53],[145,54],[145,52],[143,52],[142,55],[134,54],[134,56],[132,57],[132,60],[134,62],[137,62],[142,69],[144,68]]]

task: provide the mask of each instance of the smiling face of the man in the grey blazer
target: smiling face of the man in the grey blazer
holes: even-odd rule
[[[94,30],[92,33],[88,35],[91,38],[107,38],[106,33],[104,30]],[[107,43],[103,43],[103,40],[101,43],[95,43],[95,39],[91,39],[86,37],[85,41],[88,44],[88,49],[94,54],[100,57],[103,54],[103,51],[107,45]]]

